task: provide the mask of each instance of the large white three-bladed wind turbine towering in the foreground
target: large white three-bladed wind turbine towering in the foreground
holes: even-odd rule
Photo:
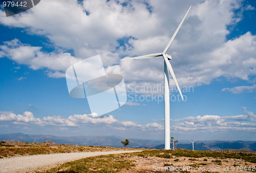
[[[168,61],[168,60],[171,60],[172,57],[170,55],[166,54],[166,52],[168,51],[168,49],[170,47],[170,44],[172,44],[172,42],[173,42],[176,34],[178,33],[183,21],[185,20],[190,8],[191,8],[191,6],[187,10],[187,13],[185,14],[182,21],[179,24],[179,27],[175,31],[172,38],[170,38],[169,43],[167,44],[167,46],[165,47],[165,49],[162,53],[144,55],[144,56],[135,57],[135,58],[122,59],[122,60],[146,59],[146,58],[154,58],[154,57],[160,57],[160,56],[162,56],[163,59],[164,59],[164,143],[165,143],[165,149],[166,150],[170,150],[170,98],[169,98],[169,73],[168,73],[168,70],[170,71],[170,74],[172,75],[172,77],[174,79],[174,82],[175,82],[175,84],[176,84],[176,86],[177,86],[177,88],[180,92],[181,98],[183,100],[183,95],[181,93],[181,90],[180,90],[179,84],[177,82],[177,79],[174,75],[173,67],[172,67],[172,65],[170,65],[170,62]]]

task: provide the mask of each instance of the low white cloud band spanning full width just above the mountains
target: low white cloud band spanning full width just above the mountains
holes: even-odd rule
[[[218,116],[204,115],[195,117],[185,117],[174,119],[173,126],[170,127],[172,132],[183,133],[186,131],[194,132],[221,132],[221,131],[248,131],[256,132],[256,115],[249,112],[243,107],[246,115],[236,116]],[[14,114],[13,112],[0,112],[0,121],[11,121],[16,125],[28,125],[33,123],[38,126],[58,126],[60,130],[66,130],[68,127],[80,127],[82,125],[105,126],[112,130],[135,130],[147,132],[163,132],[164,126],[161,123],[147,123],[141,125],[133,121],[120,121],[112,115],[96,116],[94,114],[72,115],[68,118],[61,116],[47,116],[44,118],[35,118],[32,112],[24,112],[23,115]],[[157,121],[157,120],[153,120]],[[163,121],[160,119],[159,121]],[[3,126],[2,126],[3,127]]]

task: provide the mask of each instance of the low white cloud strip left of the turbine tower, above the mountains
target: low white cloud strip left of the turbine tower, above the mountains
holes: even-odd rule
[[[127,130],[127,129],[140,129],[143,131],[151,131],[152,129],[161,130],[162,126],[157,123],[148,125],[139,125],[132,121],[120,121],[112,115],[97,116],[95,113],[72,115],[68,118],[61,116],[47,116],[44,118],[35,118],[32,112],[24,112],[23,115],[14,114],[13,112],[0,112],[0,121],[11,121],[16,125],[27,125],[33,123],[39,126],[60,126],[66,128],[60,128],[60,130],[66,130],[67,127],[79,127],[83,124],[86,125],[100,125],[106,126],[114,130]]]

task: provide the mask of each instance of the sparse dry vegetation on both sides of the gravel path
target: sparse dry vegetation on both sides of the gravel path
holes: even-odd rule
[[[51,153],[72,153],[72,152],[96,152],[96,151],[113,151],[120,150],[115,147],[104,146],[74,146],[74,145],[29,145],[24,146],[4,146],[4,142],[0,142],[0,158],[16,156],[16,155],[33,155],[33,154],[51,154]],[[123,148],[122,150],[131,150]],[[132,149],[136,150],[136,149]],[[138,149],[141,150],[141,149]],[[198,159],[203,158],[203,159]],[[166,160],[167,159],[167,160]],[[169,159],[169,160],[168,160]],[[44,173],[80,173],[80,172],[151,172],[149,169],[141,168],[139,171],[138,163],[143,162],[145,165],[152,164],[155,160],[156,164],[163,167],[178,166],[186,163],[185,166],[194,168],[209,167],[215,164],[229,164],[229,166],[245,166],[256,163],[256,154],[253,153],[236,153],[236,152],[218,152],[218,151],[189,151],[183,149],[177,150],[150,150],[145,149],[143,152],[125,153],[119,155],[97,156],[68,162],[49,170]],[[227,161],[228,160],[228,161]],[[193,161],[193,162],[189,162]],[[203,161],[208,161],[203,162]],[[243,163],[242,163],[243,162]],[[247,163],[245,163],[247,162]],[[154,163],[154,162],[153,162]],[[234,163],[239,163],[234,164]],[[248,164],[249,163],[249,164]],[[216,165],[215,165],[216,166]],[[247,166],[248,167],[248,166]],[[132,169],[132,170],[130,170]],[[143,169],[143,170],[142,170]],[[152,167],[151,167],[152,170]],[[218,171],[218,170],[215,170]],[[190,172],[183,170],[179,172]],[[204,173],[216,173],[205,171]]]

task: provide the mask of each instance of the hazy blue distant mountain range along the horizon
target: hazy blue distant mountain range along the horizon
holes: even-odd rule
[[[164,149],[164,140],[138,139],[123,136],[53,136],[53,135],[26,135],[23,133],[0,134],[0,141],[24,141],[24,142],[46,142],[47,140],[59,144],[71,145],[94,145],[94,146],[114,146],[123,147],[121,141],[129,139],[129,147],[145,148],[145,149]],[[172,147],[173,144],[171,143]],[[179,149],[192,150],[192,143],[179,141],[177,144]],[[194,143],[194,150],[211,151],[222,149],[239,149],[256,151],[256,141],[198,141]]]

